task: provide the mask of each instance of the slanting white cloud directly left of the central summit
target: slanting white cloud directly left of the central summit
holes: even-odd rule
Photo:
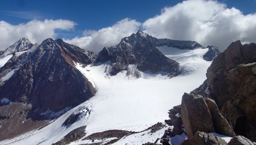
[[[103,47],[117,45],[123,37],[136,33],[140,26],[140,22],[126,18],[118,21],[111,27],[102,28],[98,31],[85,30],[83,31],[83,37],[63,38],[63,41],[85,50],[99,52]]]

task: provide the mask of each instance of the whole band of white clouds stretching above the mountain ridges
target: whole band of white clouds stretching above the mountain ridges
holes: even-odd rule
[[[32,20],[19,25],[0,21],[0,50],[21,37],[41,43],[48,37],[55,38],[56,29],[70,30],[75,25],[68,20]],[[164,7],[160,15],[143,23],[126,18],[98,31],[84,30],[82,37],[63,40],[85,50],[99,52],[103,47],[118,44],[121,38],[136,33],[138,29],[156,38],[193,40],[204,47],[213,45],[223,51],[236,40],[256,42],[256,13],[243,15],[240,10],[229,9],[215,0],[187,0]]]

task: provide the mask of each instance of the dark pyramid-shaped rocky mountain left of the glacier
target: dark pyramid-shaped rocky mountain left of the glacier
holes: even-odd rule
[[[64,113],[96,93],[74,63],[91,64],[93,55],[97,55],[95,53],[86,52],[61,39],[49,38],[39,46],[22,38],[3,52],[3,55],[8,54],[13,57],[0,68],[0,78],[11,71],[13,75],[6,80],[0,79],[0,99],[8,98],[11,102],[29,106],[22,117],[25,122],[28,119],[53,119],[60,115],[56,116],[56,112],[65,109]],[[4,129],[9,137],[22,125],[22,121],[17,121],[19,125],[10,125],[7,119],[4,121],[0,132]]]

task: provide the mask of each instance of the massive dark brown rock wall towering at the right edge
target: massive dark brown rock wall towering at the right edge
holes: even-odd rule
[[[211,90],[208,97],[215,100],[218,108],[222,110],[225,103],[230,101],[247,116],[245,121],[244,118],[238,117],[239,122],[244,124],[247,137],[256,137],[256,102],[252,101],[256,99],[255,62],[256,44],[241,45],[240,41],[236,41],[213,60],[206,74]],[[237,110],[232,109],[232,105],[226,108],[230,109],[228,112]],[[223,113],[223,116],[227,115]],[[234,126],[234,119],[227,120]]]

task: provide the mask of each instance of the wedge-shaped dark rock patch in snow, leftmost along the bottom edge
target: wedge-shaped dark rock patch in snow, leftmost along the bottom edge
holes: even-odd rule
[[[73,131],[68,133],[63,139],[61,139],[60,141],[58,141],[52,145],[65,145],[65,144],[68,144],[68,143],[71,143],[71,142],[81,139],[82,137],[84,137],[86,135],[84,133],[85,128],[86,128],[86,126],[81,126],[81,127],[74,129]]]

